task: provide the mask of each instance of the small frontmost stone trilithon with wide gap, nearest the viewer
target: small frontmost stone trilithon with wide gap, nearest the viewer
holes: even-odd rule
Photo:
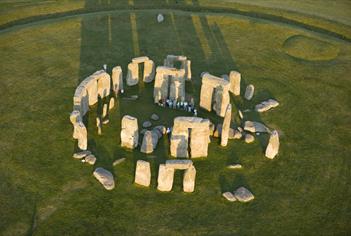
[[[185,170],[183,176],[183,191],[194,192],[196,169],[191,160],[167,160],[160,164],[157,178],[157,189],[162,192],[169,192],[173,187],[175,170]]]

